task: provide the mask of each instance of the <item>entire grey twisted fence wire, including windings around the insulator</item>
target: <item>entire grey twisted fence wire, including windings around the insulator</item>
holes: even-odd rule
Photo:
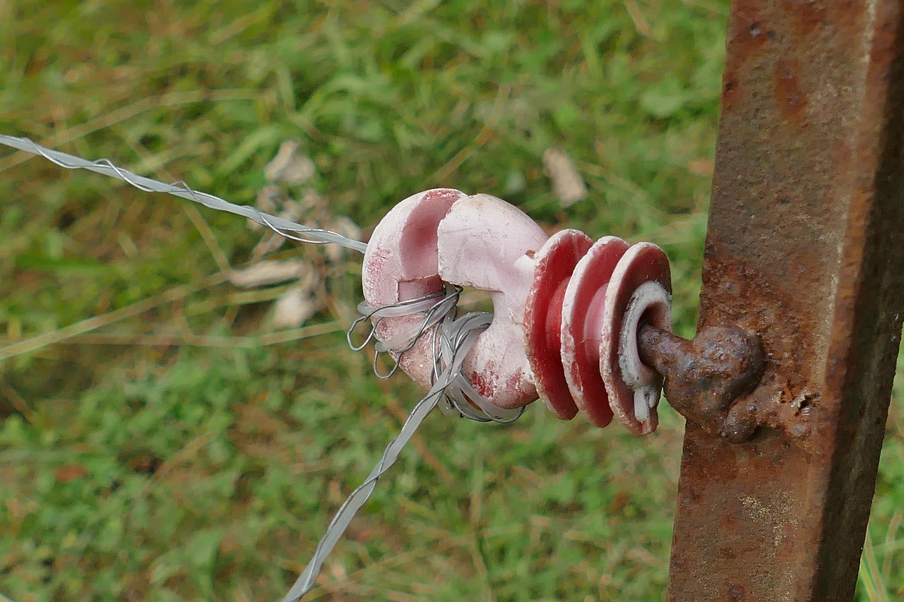
[[[108,159],[89,161],[75,155],[41,146],[29,138],[3,134],[0,134],[0,144],[11,146],[33,155],[40,155],[66,169],[86,169],[107,175],[122,180],[147,193],[173,194],[189,201],[201,203],[211,209],[235,213],[252,221],[257,221],[259,224],[267,226],[270,230],[288,239],[309,244],[334,243],[347,249],[361,252],[367,250],[365,243],[349,239],[337,232],[321,228],[309,228],[293,221],[261,212],[250,205],[237,205],[218,196],[193,190],[184,182],[169,184],[158,182],[152,178],[133,174],[114,165]],[[402,448],[409,442],[430,411],[439,407],[447,414],[480,422],[499,423],[512,422],[523,414],[523,408],[502,409],[494,406],[474,389],[462,373],[461,367],[467,353],[474,346],[479,335],[490,325],[493,315],[475,312],[457,318],[457,302],[460,294],[460,287],[447,285],[443,291],[437,294],[402,301],[391,306],[372,307],[366,303],[359,306],[359,312],[362,317],[355,320],[346,333],[348,343],[355,351],[363,349],[374,339],[377,326],[381,323],[381,320],[400,315],[418,315],[421,313],[424,315],[423,321],[413,332],[403,333],[393,337],[391,340],[378,341],[376,343],[373,369],[379,378],[389,378],[398,370],[400,355],[410,351],[420,337],[432,331],[432,386],[428,390],[427,395],[419,400],[414,409],[411,410],[399,435],[392,439],[383,451],[380,461],[377,466],[373,467],[371,474],[368,475],[363,484],[349,495],[345,503],[339,508],[333,521],[327,527],[323,538],[317,544],[314,556],[289,590],[284,602],[295,602],[314,587],[315,579],[320,574],[326,556],[342,537],[349,523],[352,522],[355,513],[370,498],[377,480],[395,464]],[[370,333],[363,343],[353,343],[352,334],[355,327],[367,320],[372,321]],[[377,369],[377,357],[379,357],[380,353],[390,353],[393,357],[394,364],[389,373],[381,373]]]

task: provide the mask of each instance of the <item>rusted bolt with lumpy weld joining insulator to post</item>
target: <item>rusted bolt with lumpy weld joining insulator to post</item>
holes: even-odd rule
[[[753,436],[755,419],[738,419],[732,403],[757,388],[766,354],[756,334],[710,327],[692,340],[653,325],[640,328],[641,359],[665,377],[665,399],[685,419],[731,441]]]

